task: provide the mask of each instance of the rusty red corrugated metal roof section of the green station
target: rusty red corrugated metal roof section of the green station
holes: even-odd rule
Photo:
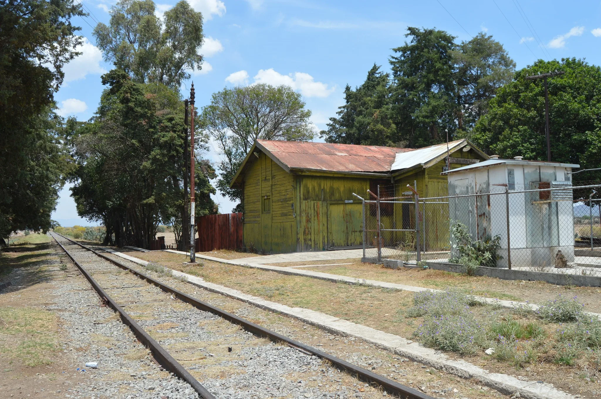
[[[412,148],[337,143],[257,140],[261,146],[291,169],[333,172],[390,172],[399,152]]]

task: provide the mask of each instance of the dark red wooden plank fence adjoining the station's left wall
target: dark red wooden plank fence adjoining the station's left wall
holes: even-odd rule
[[[242,212],[196,218],[197,252],[242,248]]]

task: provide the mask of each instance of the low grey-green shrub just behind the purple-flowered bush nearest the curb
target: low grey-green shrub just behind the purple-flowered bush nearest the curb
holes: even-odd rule
[[[466,295],[458,290],[416,292],[413,295],[413,306],[407,309],[406,316],[459,314],[468,309],[470,305],[479,303],[474,296]]]

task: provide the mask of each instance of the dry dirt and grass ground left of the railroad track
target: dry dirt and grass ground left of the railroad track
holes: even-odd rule
[[[0,283],[15,269],[22,270],[23,286],[17,292],[0,292],[0,397],[55,398],[85,379],[70,367],[71,358],[61,347],[63,326],[44,309],[53,287],[44,263],[52,253],[47,236],[29,235],[25,242],[0,254]],[[13,251],[14,250],[14,251]],[[4,276],[4,280],[2,280]]]

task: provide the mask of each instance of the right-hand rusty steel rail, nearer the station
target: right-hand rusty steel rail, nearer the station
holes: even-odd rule
[[[58,233],[55,233],[55,234],[58,234]],[[402,385],[391,379],[380,376],[379,374],[372,373],[369,370],[365,370],[365,368],[358,367],[352,363],[344,361],[343,359],[339,359],[336,356],[330,355],[329,353],[322,352],[319,349],[315,349],[314,347],[305,345],[304,343],[301,343],[299,341],[292,340],[291,338],[288,338],[288,337],[285,337],[284,335],[278,334],[275,331],[271,331],[270,329],[264,328],[260,325],[249,322],[248,320],[242,319],[242,317],[236,316],[235,314],[229,313],[218,307],[210,305],[207,302],[200,301],[200,300],[194,298],[193,296],[190,296],[190,295],[188,295],[178,289],[175,289],[173,287],[169,287],[168,285],[163,284],[160,281],[158,281],[144,273],[138,272],[135,269],[132,269],[129,266],[124,265],[123,263],[119,262],[118,260],[111,259],[108,256],[105,256],[105,255],[93,250],[92,248],[85,246],[84,244],[81,244],[77,241],[73,241],[72,239],[67,238],[63,235],[61,235],[61,237],[73,242],[73,244],[77,244],[80,247],[85,248],[88,251],[91,251],[92,253],[96,254],[97,256],[102,257],[102,259],[106,259],[109,262],[113,263],[114,265],[116,265],[122,269],[132,272],[137,277],[142,278],[142,280],[149,281],[150,283],[159,287],[163,291],[174,294],[175,296],[177,296],[178,299],[180,299],[183,302],[191,304],[192,306],[194,306],[200,310],[204,310],[204,311],[213,313],[216,316],[222,317],[223,319],[228,320],[229,322],[231,322],[233,324],[242,326],[242,328],[244,328],[246,331],[252,332],[252,334],[258,335],[259,337],[266,337],[275,342],[278,342],[278,341],[285,342],[288,344],[288,346],[299,349],[299,350],[301,350],[301,352],[307,352],[307,353],[310,353],[311,355],[315,355],[315,356],[318,356],[319,358],[325,359],[325,360],[331,362],[332,364],[337,365],[337,367],[343,368],[349,374],[355,375],[359,379],[364,380],[365,382],[376,383],[377,385],[384,388],[390,394],[398,395],[399,397],[404,398],[404,399],[435,399],[430,395],[426,395],[423,392],[417,391],[416,389],[409,388],[409,386]]]

